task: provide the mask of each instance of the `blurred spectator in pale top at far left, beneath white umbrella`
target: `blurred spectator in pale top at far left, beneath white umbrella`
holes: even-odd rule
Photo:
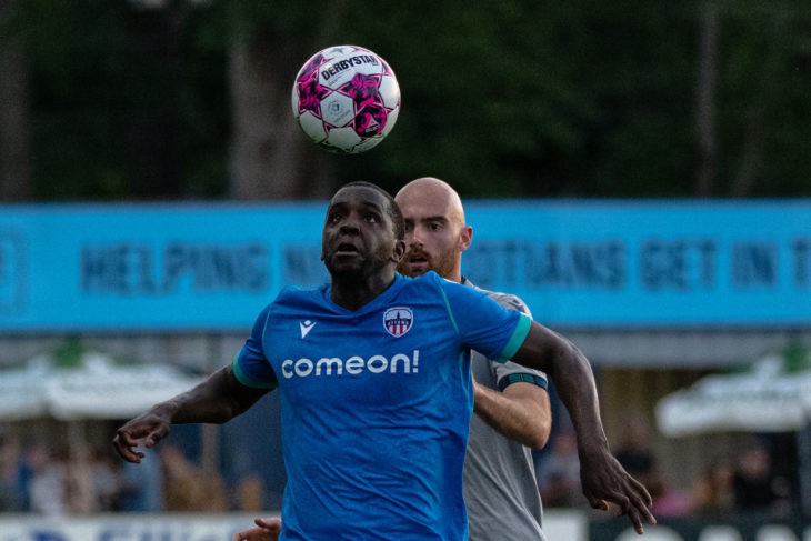
[[[54,460],[50,450],[42,444],[37,444],[29,450],[27,462],[31,469],[31,478],[28,483],[31,511],[48,515],[63,515],[67,512],[64,464]]]

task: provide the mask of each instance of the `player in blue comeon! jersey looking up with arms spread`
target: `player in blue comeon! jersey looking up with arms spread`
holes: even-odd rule
[[[322,259],[330,283],[286,289],[234,362],[121,427],[138,462],[171,424],[224,422],[281,393],[288,472],[282,540],[464,540],[462,467],[473,407],[470,349],[545,371],[581,442],[583,491],[638,532],[650,495],[613,459],[593,374],[569,341],[434,273],[396,272],[403,220],[391,197],[351,183],[330,201]]]

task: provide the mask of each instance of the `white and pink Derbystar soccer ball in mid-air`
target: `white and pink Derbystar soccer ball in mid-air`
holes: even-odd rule
[[[389,134],[400,112],[400,86],[379,56],[356,46],[313,54],[293,83],[293,116],[321,148],[354,154]]]

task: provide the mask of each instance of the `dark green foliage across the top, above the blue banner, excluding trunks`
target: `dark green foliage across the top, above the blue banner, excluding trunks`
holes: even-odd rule
[[[291,83],[291,63],[331,44],[392,66],[398,124],[366,154],[326,158],[337,183],[393,191],[430,174],[464,197],[691,197],[711,1],[713,194],[811,196],[805,0],[27,0],[7,27],[31,62],[40,199],[226,197],[237,40],[259,40]]]

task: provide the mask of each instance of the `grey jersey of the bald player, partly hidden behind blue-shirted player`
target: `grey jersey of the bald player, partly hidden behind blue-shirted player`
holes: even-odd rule
[[[487,293],[504,308],[530,314],[515,295],[495,293],[462,283]],[[547,374],[514,362],[490,361],[473,352],[475,381],[499,390],[511,374],[528,374],[545,383]],[[518,377],[513,375],[512,379]],[[529,378],[532,379],[532,378]],[[535,380],[538,381],[538,380]],[[470,420],[470,441],[464,460],[464,501],[468,505],[470,541],[545,540],[541,531],[543,510],[535,481],[531,450],[490,428],[479,415]]]

